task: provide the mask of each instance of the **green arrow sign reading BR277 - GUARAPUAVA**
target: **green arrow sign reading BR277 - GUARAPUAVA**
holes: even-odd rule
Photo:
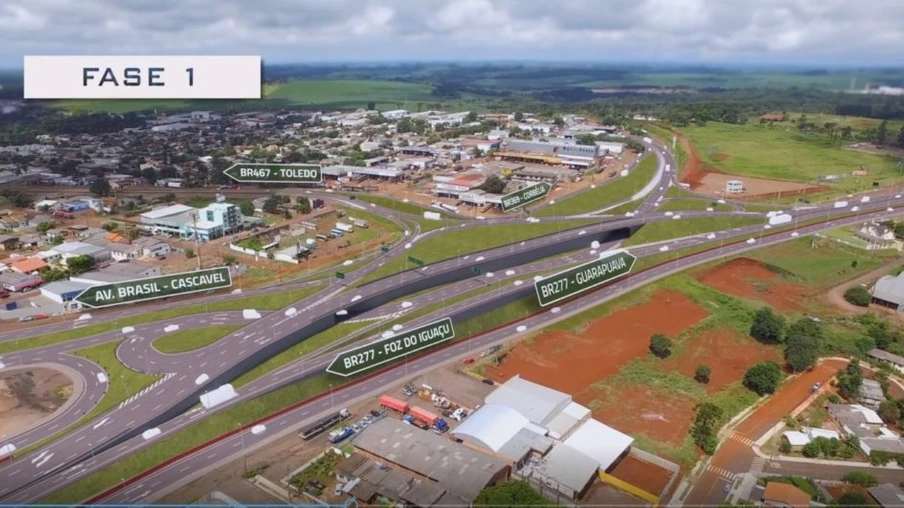
[[[631,273],[637,258],[628,251],[618,251],[550,275],[534,283],[541,307],[556,303],[600,284]]]

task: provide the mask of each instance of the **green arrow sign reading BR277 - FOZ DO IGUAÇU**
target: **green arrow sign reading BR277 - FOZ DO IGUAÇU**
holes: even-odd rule
[[[351,376],[454,337],[452,319],[441,319],[409,332],[339,353],[326,371],[337,376]]]

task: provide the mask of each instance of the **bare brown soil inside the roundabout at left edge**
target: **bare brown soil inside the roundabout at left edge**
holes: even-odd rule
[[[52,369],[0,374],[0,436],[14,436],[51,416],[72,396],[72,380]]]

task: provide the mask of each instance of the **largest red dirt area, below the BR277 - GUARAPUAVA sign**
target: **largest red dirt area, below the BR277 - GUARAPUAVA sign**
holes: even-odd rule
[[[706,309],[684,294],[658,291],[642,305],[597,319],[580,335],[548,331],[518,343],[501,365],[487,367],[486,374],[499,382],[519,374],[577,394],[645,355],[654,333],[675,336],[706,316]]]

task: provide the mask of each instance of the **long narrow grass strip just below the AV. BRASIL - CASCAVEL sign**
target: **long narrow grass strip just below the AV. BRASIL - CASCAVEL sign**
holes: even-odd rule
[[[48,333],[39,337],[29,337],[27,339],[0,342],[0,354],[9,353],[11,351],[20,351],[23,349],[49,346],[51,344],[58,344],[60,342],[67,342],[70,340],[90,337],[99,333],[111,332],[125,326],[153,323],[164,319],[190,316],[192,314],[243,309],[277,310],[288,306],[292,302],[310,296],[323,289],[324,287],[325,285],[318,284],[302,289],[274,292],[265,295],[233,298],[230,300],[212,302],[209,304],[202,303],[196,305],[186,305],[185,307],[175,307],[172,309],[137,314],[111,322],[98,323],[96,325],[87,325],[72,330],[63,330],[59,332]]]

